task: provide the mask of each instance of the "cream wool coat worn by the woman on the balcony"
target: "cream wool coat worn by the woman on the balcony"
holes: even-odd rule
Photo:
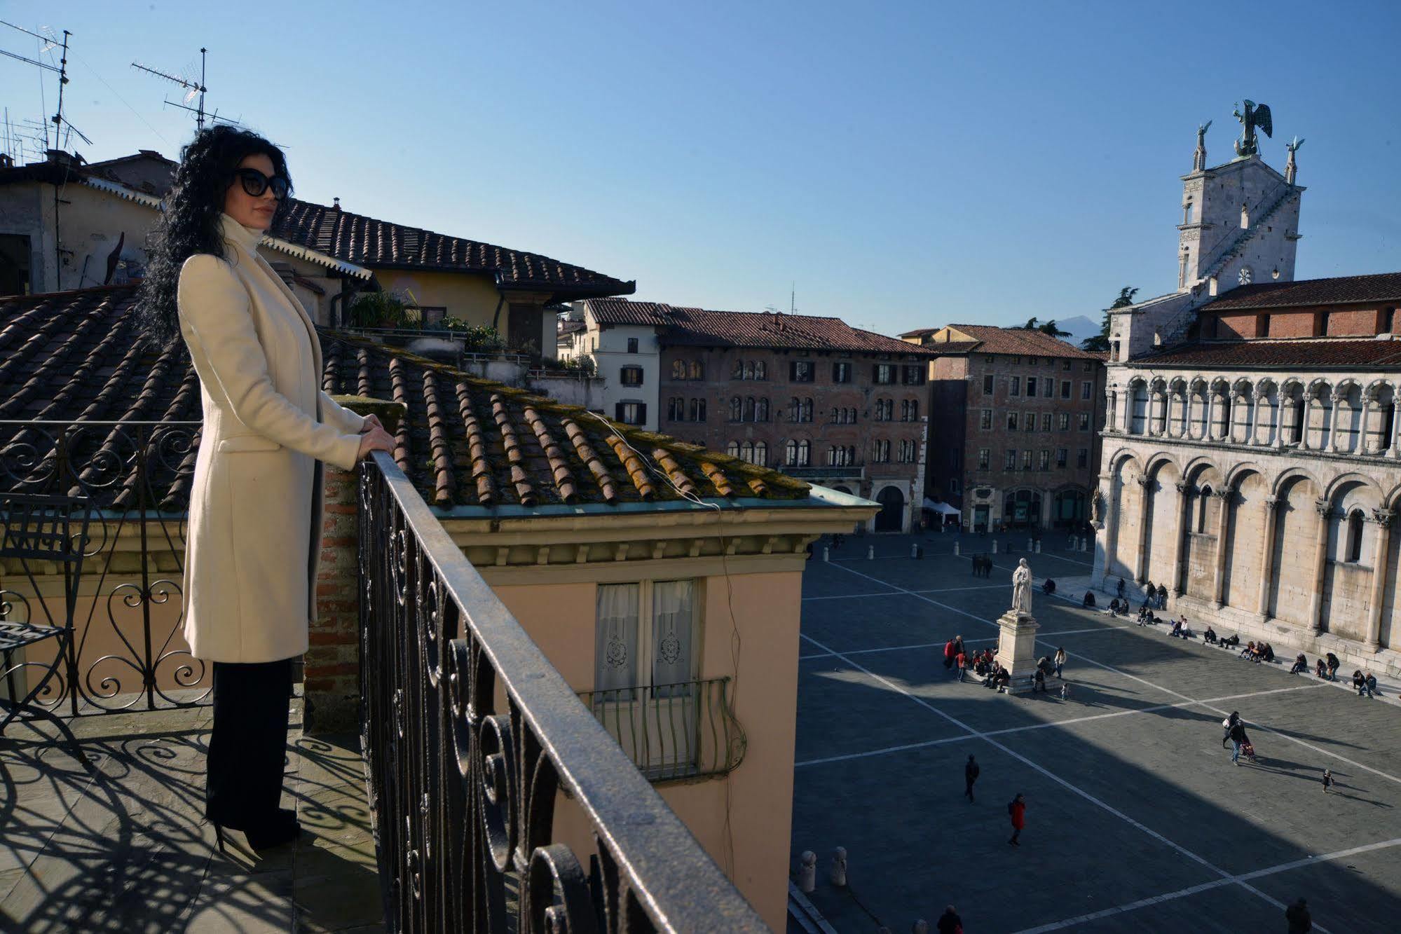
[[[226,259],[179,274],[179,329],[205,426],[185,545],[195,658],[265,662],[307,651],[317,616],[322,466],[354,469],[364,419],[321,389],[311,316],[258,255],[262,231],[220,213]]]

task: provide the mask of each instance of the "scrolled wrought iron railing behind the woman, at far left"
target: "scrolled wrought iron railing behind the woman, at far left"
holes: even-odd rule
[[[69,713],[80,716],[184,707],[207,697],[205,662],[175,637],[178,613],[160,623],[151,612],[171,601],[181,605],[199,427],[199,421],[0,420],[0,490],[83,496],[94,510],[83,578],[95,584],[80,587],[80,597],[94,597],[74,619],[67,658],[34,703],[56,711],[66,702]],[[32,601],[46,599],[36,577],[14,569],[3,585],[31,592],[27,599],[0,599],[0,615],[38,612]],[[99,641],[115,651],[94,650]],[[27,660],[13,671],[36,665]]]

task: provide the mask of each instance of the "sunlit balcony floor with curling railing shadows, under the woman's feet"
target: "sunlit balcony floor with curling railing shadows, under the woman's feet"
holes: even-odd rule
[[[209,707],[14,723],[0,738],[0,930],[381,931],[357,737],[303,737],[283,807],[303,837],[265,851],[203,819]]]

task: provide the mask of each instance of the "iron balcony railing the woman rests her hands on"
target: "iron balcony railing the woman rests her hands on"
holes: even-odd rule
[[[388,454],[359,493],[361,749],[391,930],[768,930]],[[593,826],[587,872],[555,842],[558,791]]]

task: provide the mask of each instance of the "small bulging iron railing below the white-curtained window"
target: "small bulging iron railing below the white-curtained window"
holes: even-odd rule
[[[744,759],[729,678],[584,690],[579,699],[651,781],[726,774]]]

